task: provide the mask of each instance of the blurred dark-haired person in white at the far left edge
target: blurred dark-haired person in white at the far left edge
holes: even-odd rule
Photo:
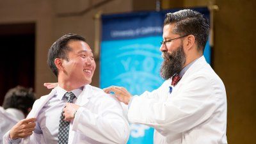
[[[8,90],[3,107],[0,106],[0,143],[3,143],[3,134],[28,115],[34,102],[35,93],[32,88],[16,86]]]

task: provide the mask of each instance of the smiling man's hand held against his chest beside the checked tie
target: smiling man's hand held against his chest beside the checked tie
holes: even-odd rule
[[[65,117],[64,120],[69,122],[70,120],[74,119],[74,114],[76,113],[77,109],[80,108],[77,104],[66,103],[65,108],[63,108],[63,116]]]

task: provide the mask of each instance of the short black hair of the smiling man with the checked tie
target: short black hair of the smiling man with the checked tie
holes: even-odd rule
[[[55,76],[58,76],[58,68],[56,67],[54,60],[56,58],[63,58],[68,61],[67,52],[72,51],[70,47],[67,46],[68,42],[72,40],[81,40],[85,42],[85,39],[83,36],[68,33],[67,35],[61,36],[49,49],[48,52],[48,60],[47,63],[49,67],[51,68],[52,72],[55,74]]]

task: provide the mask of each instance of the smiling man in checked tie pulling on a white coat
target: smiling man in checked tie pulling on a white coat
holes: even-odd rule
[[[96,64],[82,36],[52,44],[48,65],[58,86],[36,100],[28,117],[7,132],[4,143],[126,143],[129,124],[120,102],[90,86]]]

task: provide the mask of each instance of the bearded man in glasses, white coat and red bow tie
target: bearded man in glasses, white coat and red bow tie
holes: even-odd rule
[[[227,143],[225,86],[203,56],[208,34],[201,13],[167,13],[160,47],[166,81],[134,97],[122,87],[104,89],[129,104],[129,122],[154,127],[154,143]]]

